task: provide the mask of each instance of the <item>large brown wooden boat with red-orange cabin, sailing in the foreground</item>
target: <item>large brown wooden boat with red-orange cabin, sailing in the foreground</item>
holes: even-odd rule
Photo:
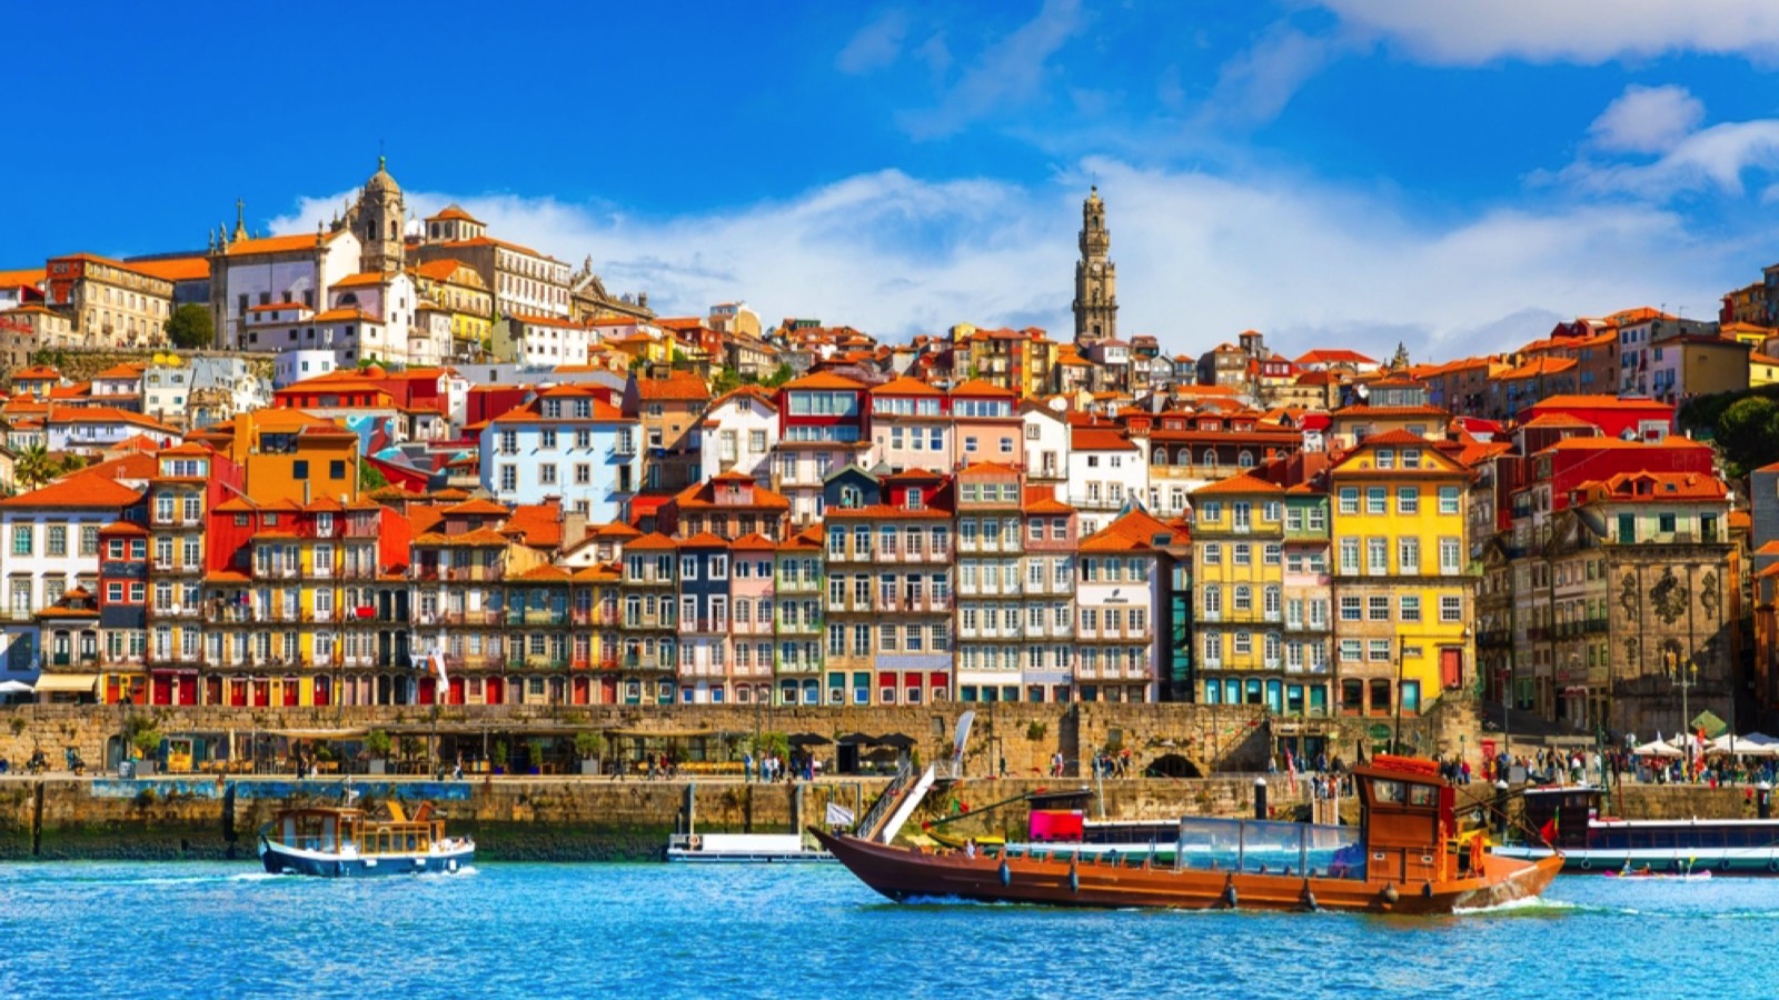
[[[1452,913],[1537,897],[1562,868],[1560,854],[1519,861],[1487,851],[1482,829],[1457,835],[1455,794],[1436,762],[1379,756],[1354,779],[1357,827],[1187,817],[1167,863],[1153,852],[932,852],[811,833],[893,900]]]

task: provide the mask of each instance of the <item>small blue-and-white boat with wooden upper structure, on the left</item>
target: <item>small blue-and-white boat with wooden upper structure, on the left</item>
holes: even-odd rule
[[[281,810],[260,827],[260,863],[278,874],[338,877],[457,872],[475,859],[475,842],[447,836],[445,820],[422,804],[409,819],[386,802],[390,819],[352,806]]]

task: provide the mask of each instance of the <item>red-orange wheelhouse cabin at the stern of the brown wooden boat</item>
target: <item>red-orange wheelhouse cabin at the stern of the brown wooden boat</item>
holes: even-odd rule
[[[1439,776],[1439,765],[1379,754],[1352,774],[1359,786],[1366,875],[1402,884],[1450,879],[1455,792]],[[1473,859],[1466,854],[1461,861],[1468,868]]]

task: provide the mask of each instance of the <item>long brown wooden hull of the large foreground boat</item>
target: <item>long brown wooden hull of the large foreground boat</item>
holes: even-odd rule
[[[1340,909],[1361,913],[1452,913],[1532,899],[1562,868],[1562,858],[1516,861],[1485,856],[1477,877],[1395,884],[1260,872],[1144,867],[1101,858],[996,858],[927,854],[811,831],[834,859],[888,899],[966,899],[1085,907]]]

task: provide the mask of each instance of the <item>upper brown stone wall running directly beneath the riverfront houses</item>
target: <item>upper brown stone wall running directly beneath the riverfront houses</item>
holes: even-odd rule
[[[1288,722],[1268,719],[1260,706],[1208,705],[925,705],[925,706],[356,706],[356,708],[226,708],[226,706],[105,706],[105,705],[14,705],[0,706],[0,758],[21,767],[34,749],[43,749],[52,767],[60,767],[64,751],[73,747],[89,767],[105,767],[114,758],[121,735],[135,722],[153,724],[162,735],[178,733],[326,733],[386,730],[391,735],[431,738],[475,737],[571,738],[578,730],[598,730],[608,740],[607,754],[621,754],[621,735],[653,733],[660,737],[728,735],[745,740],[756,731],[817,733],[836,738],[845,733],[873,737],[900,733],[914,740],[922,762],[952,754],[952,733],[962,712],[975,712],[975,726],[966,746],[964,774],[996,774],[1005,762],[1007,776],[1039,778],[1050,774],[1053,754],[1069,762],[1069,770],[1087,774],[1098,751],[1130,751],[1131,769],[1140,772],[1162,758],[1171,758],[1169,774],[1210,776],[1222,772],[1263,772],[1274,753],[1272,737],[1320,735],[1329,753],[1352,762],[1357,747],[1373,746],[1393,719],[1324,719]],[[1478,742],[1475,708],[1452,701],[1427,717],[1402,721],[1402,738],[1421,753],[1475,754]],[[246,746],[246,742],[244,742]],[[107,751],[112,751],[109,756]],[[833,746],[817,753],[833,760]],[[1277,765],[1279,762],[1274,760]],[[1183,765],[1183,767],[1181,767]]]

